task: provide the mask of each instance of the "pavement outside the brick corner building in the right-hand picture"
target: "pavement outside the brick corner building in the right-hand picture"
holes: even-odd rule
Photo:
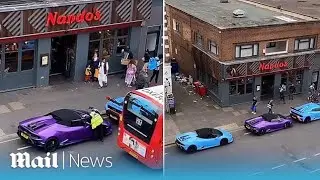
[[[176,114],[166,114],[165,145],[173,144],[179,133],[193,131],[204,127],[220,127],[229,131],[243,129],[246,119],[268,112],[267,101],[258,102],[257,114],[250,111],[251,102],[220,108],[209,97],[201,98],[191,87],[186,87],[173,81],[173,93],[176,99]],[[306,97],[295,96],[294,100],[286,100],[283,104],[274,101],[274,112],[287,115],[291,106],[306,103]]]

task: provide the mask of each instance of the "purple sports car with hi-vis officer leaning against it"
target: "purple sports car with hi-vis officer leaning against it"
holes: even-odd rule
[[[17,134],[28,143],[52,152],[61,146],[93,139],[90,122],[89,112],[60,109],[20,122]],[[106,136],[112,133],[110,122],[104,121],[103,126]]]

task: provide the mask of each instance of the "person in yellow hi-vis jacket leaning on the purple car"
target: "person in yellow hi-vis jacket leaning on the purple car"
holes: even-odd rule
[[[104,129],[103,129],[103,118],[97,110],[93,110],[90,113],[91,116],[91,128],[93,130],[93,135],[96,140],[103,141]]]

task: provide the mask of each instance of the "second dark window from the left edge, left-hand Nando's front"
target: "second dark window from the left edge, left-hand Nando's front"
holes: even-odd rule
[[[26,41],[22,44],[21,71],[33,69],[35,57],[35,41]]]

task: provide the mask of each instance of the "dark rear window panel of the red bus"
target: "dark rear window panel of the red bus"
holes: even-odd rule
[[[149,144],[158,119],[158,107],[151,101],[130,94],[124,106],[124,128]]]

